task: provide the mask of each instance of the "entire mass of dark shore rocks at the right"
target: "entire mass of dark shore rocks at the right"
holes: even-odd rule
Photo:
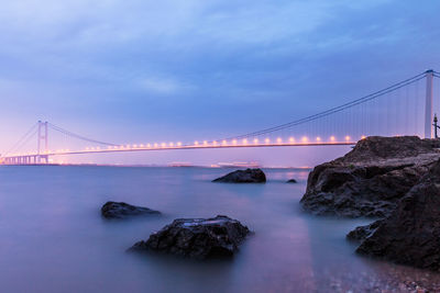
[[[317,166],[301,199],[315,215],[380,217],[350,232],[358,253],[440,270],[438,139],[367,137]]]

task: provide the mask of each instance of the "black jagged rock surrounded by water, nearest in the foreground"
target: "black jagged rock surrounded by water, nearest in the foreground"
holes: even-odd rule
[[[196,259],[231,257],[249,233],[246,226],[228,216],[178,218],[129,250],[154,250]]]

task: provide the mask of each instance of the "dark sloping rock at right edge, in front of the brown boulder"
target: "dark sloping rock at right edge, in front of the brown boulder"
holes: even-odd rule
[[[356,250],[398,263],[440,270],[440,161]]]

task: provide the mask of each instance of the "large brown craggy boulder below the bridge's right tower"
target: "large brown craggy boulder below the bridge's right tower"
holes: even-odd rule
[[[440,157],[438,146],[417,136],[362,139],[345,156],[315,167],[300,202],[317,215],[385,217]]]

